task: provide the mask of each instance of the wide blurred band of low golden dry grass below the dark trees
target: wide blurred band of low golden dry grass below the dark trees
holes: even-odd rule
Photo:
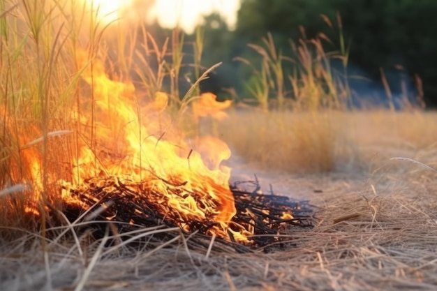
[[[218,134],[233,154],[270,170],[327,172],[415,158],[437,142],[435,112],[259,112],[230,114]]]

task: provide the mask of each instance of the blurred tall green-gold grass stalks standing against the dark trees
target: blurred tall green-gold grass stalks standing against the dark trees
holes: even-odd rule
[[[328,17],[323,20],[335,29]],[[262,44],[249,44],[260,55],[260,64],[237,57],[253,69],[254,77],[247,84],[248,91],[267,109],[271,103],[275,109],[319,110],[321,108],[345,109],[350,105],[348,84],[348,57],[341,18],[337,15],[339,49],[327,52],[326,44],[332,45],[325,33],[313,38],[306,36],[304,27],[299,27],[301,36],[290,40],[292,55],[285,56],[276,49],[271,33],[262,39]],[[334,60],[341,61],[341,68],[332,66]],[[289,70],[284,70],[287,67]],[[291,73],[286,73],[291,71]],[[286,88],[291,88],[287,91]],[[247,96],[246,96],[247,97]]]

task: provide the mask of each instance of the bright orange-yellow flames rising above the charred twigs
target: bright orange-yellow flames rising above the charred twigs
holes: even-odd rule
[[[78,149],[73,181],[64,182],[64,200],[72,199],[71,187],[96,186],[116,191],[123,186],[140,193],[148,189],[149,197],[144,199],[162,204],[156,210],[162,215],[207,222],[212,224],[208,230],[211,234],[229,239],[231,232],[237,241],[245,241],[244,235],[229,227],[236,209],[228,185],[230,168],[221,165],[230,157],[228,146],[214,137],[202,137],[198,151],[193,151],[177,135],[171,136],[169,123],[162,124],[168,104],[165,93],[157,92],[153,102],[142,104],[131,82],[110,80],[101,60],[94,59],[92,66],[88,60],[82,52],[77,61],[84,68],[83,80],[94,94],[93,121],[78,113],[73,117],[82,128],[94,128],[94,136],[89,139],[95,140],[95,146],[84,142]],[[205,112],[220,117],[221,110],[230,105],[216,103],[215,96],[207,94],[200,96],[193,110],[201,112],[202,104]],[[109,177],[110,184],[101,177]],[[179,226],[192,231],[189,223],[181,222]]]

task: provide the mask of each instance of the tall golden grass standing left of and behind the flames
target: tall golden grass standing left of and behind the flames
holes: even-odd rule
[[[145,24],[104,22],[86,1],[10,0],[0,3],[0,33],[0,189],[8,193],[0,197],[2,225],[23,223],[20,216],[29,205],[37,205],[43,218],[47,205],[62,207],[57,181],[73,179],[80,144],[100,150],[96,130],[101,124],[112,127],[110,138],[117,144],[120,125],[98,117],[94,85],[82,81],[84,72],[103,70],[134,88],[139,119],[145,102],[165,89],[165,79],[172,111],[183,105],[178,82],[184,33],[179,29],[158,43]],[[200,64],[201,36],[196,43]],[[161,133],[170,121],[162,122]]]

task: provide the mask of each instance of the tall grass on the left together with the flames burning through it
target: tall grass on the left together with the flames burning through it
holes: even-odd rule
[[[75,3],[61,5],[57,1],[42,1],[40,4],[23,1],[12,5],[11,9],[17,10],[20,17],[14,18],[6,13],[7,18],[2,22],[3,25],[10,22],[11,27],[14,27],[12,24],[27,26],[34,37],[27,42],[21,31],[13,31],[17,38],[23,38],[25,45],[17,47],[17,42],[8,38],[1,43],[8,50],[33,57],[35,61],[31,64],[35,68],[31,70],[37,73],[38,81],[24,77],[36,87],[29,85],[29,96],[17,96],[15,91],[7,89],[25,85],[15,84],[15,76],[7,75],[3,80],[6,84],[6,91],[2,94],[5,105],[0,109],[4,116],[3,133],[8,134],[1,137],[1,142],[11,144],[2,161],[6,171],[3,184],[30,185],[20,201],[22,212],[35,214],[44,229],[47,221],[50,222],[50,209],[62,211],[65,205],[77,204],[87,211],[91,204],[97,202],[100,203],[98,206],[110,212],[109,216],[122,216],[124,214],[119,213],[119,208],[110,209],[108,204],[124,200],[118,206],[128,216],[133,216],[132,211],[140,211],[145,219],[156,214],[157,217],[151,219],[154,224],[171,221],[168,224],[177,225],[186,232],[200,231],[242,243],[258,234],[262,223],[269,231],[260,234],[272,235],[277,231],[271,230],[271,225],[281,224],[276,220],[286,222],[295,219],[289,211],[291,209],[284,204],[286,209],[275,213],[274,221],[270,221],[273,216],[269,217],[271,213],[268,209],[261,209],[265,217],[258,218],[250,213],[255,208],[247,207],[241,211],[246,216],[240,215],[238,222],[233,221],[237,209],[228,182],[230,168],[221,164],[230,157],[228,146],[216,137],[205,135],[196,135],[195,141],[190,144],[180,130],[188,107],[192,108],[194,119],[221,118],[224,115],[221,111],[231,105],[231,101],[218,103],[214,94],[191,96],[198,82],[205,79],[214,66],[180,98],[178,89],[174,89],[178,87],[175,66],[180,66],[182,59],[175,61],[176,51],[172,51],[172,62],[165,57],[169,40],[165,40],[162,50],[158,50],[158,45],[142,24],[135,27],[133,38],[136,39],[138,31],[141,31],[144,43],[138,45],[131,40],[129,45],[132,45],[131,55],[145,53],[147,58],[143,59],[144,66],[132,65],[128,73],[135,69],[151,70],[150,50],[158,59],[158,73],[149,72],[149,78],[137,75],[142,82],[134,84],[131,75],[123,75],[126,72],[107,68],[113,62],[117,66],[126,64],[122,59],[112,60],[105,52],[105,46],[100,44],[104,41],[101,39],[103,32],[109,28],[100,26],[96,11],[88,11],[86,4],[82,4],[84,12],[89,13],[89,25],[95,22],[91,40],[83,45],[80,39],[72,37],[72,30],[82,29],[82,23],[69,22],[80,6]],[[65,20],[69,27],[58,24],[58,17],[60,21]],[[39,33],[40,30],[43,33]],[[172,46],[177,46],[179,41],[179,33],[175,33]],[[138,46],[144,51],[140,51]],[[68,53],[73,57],[68,61],[62,59]],[[11,56],[5,53],[2,57],[10,61]],[[17,57],[17,60],[19,66],[24,66],[24,59]],[[164,66],[166,62],[172,65]],[[8,64],[9,70],[5,73],[17,73]],[[63,73],[53,73],[57,70]],[[60,77],[68,82],[57,79]],[[161,91],[165,77],[171,83],[167,93]],[[52,86],[52,83],[57,86]],[[22,99],[30,99],[34,106],[29,106]],[[62,110],[67,110],[67,114]],[[23,119],[22,116],[27,114],[30,114],[29,119]],[[58,119],[61,122],[56,122]],[[54,140],[54,137],[61,138]],[[59,191],[59,185],[63,191]],[[121,196],[118,200],[117,195]],[[105,200],[107,196],[110,200]],[[3,203],[10,206],[6,207],[5,224],[12,214],[20,213],[15,211],[16,200],[14,195],[4,197]],[[129,204],[126,200],[135,203]],[[272,207],[276,207],[274,200],[271,201]],[[150,211],[147,212],[147,209]],[[140,218],[137,216],[135,219]],[[123,222],[138,223],[133,218],[126,218]],[[149,223],[141,225],[150,226]]]

